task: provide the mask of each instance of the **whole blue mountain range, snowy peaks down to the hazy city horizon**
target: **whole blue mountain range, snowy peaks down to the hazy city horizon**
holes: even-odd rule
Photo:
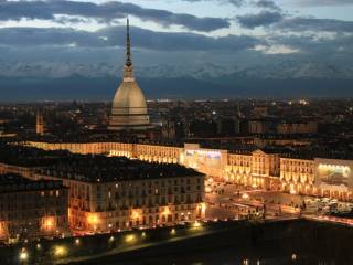
[[[120,75],[121,67],[107,63],[0,62],[0,100],[109,100]],[[353,96],[352,65],[161,64],[136,67],[136,76],[148,98]]]

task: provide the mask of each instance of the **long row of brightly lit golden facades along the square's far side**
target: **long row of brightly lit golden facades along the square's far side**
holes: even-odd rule
[[[353,187],[351,188],[351,186],[345,186],[345,189],[338,191],[338,187],[332,184],[325,187],[318,184],[320,183],[320,172],[324,168],[322,166],[322,169],[318,170],[319,161],[321,161],[319,158],[290,158],[286,153],[266,149],[235,153],[228,150],[202,148],[196,144],[185,144],[184,147],[119,142],[26,142],[25,145],[46,150],[66,149],[77,153],[110,153],[111,156],[126,156],[150,162],[180,163],[207,176],[242,186],[353,200]],[[332,165],[336,171],[341,168],[333,167],[334,165],[353,171],[353,167],[350,166],[352,160],[333,159],[331,162],[321,163]]]

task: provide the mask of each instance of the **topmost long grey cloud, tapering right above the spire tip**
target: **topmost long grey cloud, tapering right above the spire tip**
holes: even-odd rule
[[[100,22],[111,22],[128,14],[141,20],[154,21],[164,26],[182,25],[189,30],[210,32],[229,26],[227,19],[197,18],[186,13],[147,9],[137,4],[110,1],[105,3],[83,1],[0,1],[0,20],[40,19],[55,20],[55,15],[78,15]]]

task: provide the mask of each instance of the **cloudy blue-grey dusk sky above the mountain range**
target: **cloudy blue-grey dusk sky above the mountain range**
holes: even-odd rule
[[[0,61],[120,66],[128,15],[142,66],[353,65],[352,14],[352,0],[0,0]]]

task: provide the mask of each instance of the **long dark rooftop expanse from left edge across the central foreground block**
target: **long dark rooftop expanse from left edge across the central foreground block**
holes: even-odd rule
[[[0,148],[2,163],[31,167],[46,176],[86,182],[202,176],[179,165],[150,163],[125,157],[84,156],[6,144],[0,144]]]

